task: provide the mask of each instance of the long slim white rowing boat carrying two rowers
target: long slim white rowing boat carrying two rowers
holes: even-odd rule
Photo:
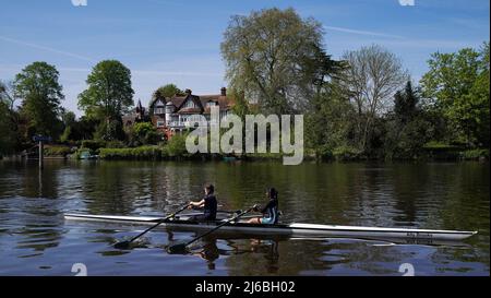
[[[161,222],[163,217],[155,216],[118,216],[118,215],[91,215],[73,214],[64,215],[68,220],[112,222],[141,225],[154,225]],[[172,230],[209,230],[219,225],[220,220],[197,223],[190,216],[176,216],[164,220],[161,226]],[[463,240],[477,231],[436,230],[436,229],[410,229],[410,228],[381,228],[361,226],[337,226],[318,224],[277,224],[258,225],[242,220],[230,223],[220,228],[224,231],[240,233],[246,235],[280,235],[289,237],[350,237],[360,239],[433,239],[433,240]]]

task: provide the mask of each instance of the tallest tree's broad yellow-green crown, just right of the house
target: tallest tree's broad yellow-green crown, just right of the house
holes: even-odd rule
[[[322,39],[322,25],[294,9],[232,16],[220,46],[230,87],[267,112],[304,110],[331,60]]]

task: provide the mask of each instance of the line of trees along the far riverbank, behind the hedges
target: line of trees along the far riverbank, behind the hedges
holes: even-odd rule
[[[303,114],[307,150],[319,158],[416,158],[429,144],[489,148],[489,41],[433,53],[415,82],[379,45],[335,60],[323,40],[322,24],[294,9],[232,16],[220,50],[236,114]],[[55,65],[34,62],[2,82],[0,155],[27,148],[34,134],[130,146],[158,142],[148,123],[123,129],[121,117],[134,105],[125,65],[100,61],[86,84],[77,97],[84,115],[76,119],[61,106]],[[153,98],[176,94],[182,91],[168,84]]]

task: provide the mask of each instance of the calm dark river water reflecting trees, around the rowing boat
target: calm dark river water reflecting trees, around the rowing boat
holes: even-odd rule
[[[489,164],[303,164],[0,162],[0,275],[489,275]],[[165,247],[194,233],[148,233],[136,248],[117,239],[146,226],[65,222],[63,213],[161,215],[216,184],[221,208],[280,194],[283,222],[479,230],[457,245],[354,239],[200,241],[190,254]]]

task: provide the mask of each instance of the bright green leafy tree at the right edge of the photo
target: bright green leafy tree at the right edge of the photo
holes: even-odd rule
[[[489,146],[489,43],[479,51],[433,53],[428,64],[421,86],[452,128],[446,141]]]

